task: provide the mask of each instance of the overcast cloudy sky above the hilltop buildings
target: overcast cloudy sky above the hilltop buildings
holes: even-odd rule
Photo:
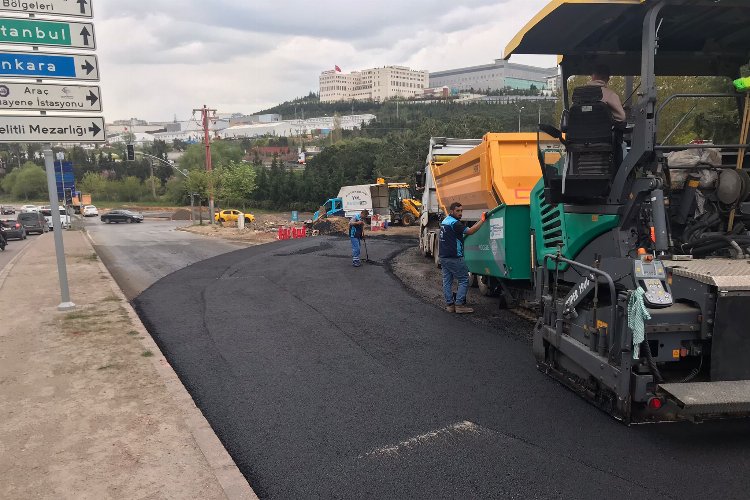
[[[108,121],[254,113],[321,71],[491,63],[548,0],[94,0]],[[554,57],[513,61],[554,66]]]

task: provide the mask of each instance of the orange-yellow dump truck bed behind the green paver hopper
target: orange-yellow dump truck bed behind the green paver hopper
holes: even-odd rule
[[[560,143],[542,136],[543,149]],[[542,177],[536,133],[487,134],[482,143],[433,169],[438,203],[448,213],[451,203],[463,205],[464,220],[478,220],[482,212],[501,203],[528,205],[531,190]]]

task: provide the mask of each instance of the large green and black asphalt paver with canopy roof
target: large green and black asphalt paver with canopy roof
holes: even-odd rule
[[[540,369],[628,423],[750,415],[750,106],[732,86],[749,49],[745,0],[554,1],[506,49],[560,57],[562,124],[540,129],[564,153],[540,150],[528,234],[491,230],[530,238]],[[630,125],[567,88],[598,64],[640,80]],[[658,76],[726,93],[661,95]],[[665,106],[704,97],[737,103],[735,143],[657,142]]]

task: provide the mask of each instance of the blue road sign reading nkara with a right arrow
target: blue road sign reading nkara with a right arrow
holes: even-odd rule
[[[99,81],[95,55],[0,51],[0,77]]]

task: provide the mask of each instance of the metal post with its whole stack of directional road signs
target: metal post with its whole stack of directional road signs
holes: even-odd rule
[[[25,78],[35,82],[0,81],[0,143],[44,144],[44,166],[47,190],[52,207],[57,272],[62,302],[60,311],[70,311],[68,270],[65,264],[62,221],[60,219],[55,159],[52,143],[105,142],[104,118],[101,116],[50,116],[48,111],[98,112],[102,110],[99,87],[64,85],[41,80],[99,81],[96,55],[39,52],[40,46],[95,50],[94,25],[77,20],[46,20],[36,16],[91,18],[92,0],[44,0],[43,2],[0,1],[0,11],[28,14],[0,17],[0,44],[23,45],[33,51],[0,50],[0,78]],[[39,111],[39,115],[16,114],[16,111]],[[62,198],[65,199],[65,171],[60,159]],[[67,203],[65,203],[67,205]],[[67,210],[67,209],[66,209]]]

